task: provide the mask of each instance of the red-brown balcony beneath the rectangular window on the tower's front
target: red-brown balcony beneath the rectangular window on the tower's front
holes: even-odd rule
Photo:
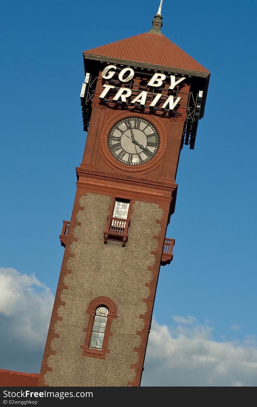
[[[104,232],[104,243],[109,240],[122,242],[122,246],[126,246],[128,240],[128,226],[130,221],[128,219],[107,217],[107,227]]]

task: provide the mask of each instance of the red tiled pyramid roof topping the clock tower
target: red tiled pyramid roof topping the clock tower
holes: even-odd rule
[[[167,37],[155,33],[144,33],[112,42],[84,52],[126,61],[209,73],[200,63],[189,57]],[[133,59],[131,58],[133,56]]]

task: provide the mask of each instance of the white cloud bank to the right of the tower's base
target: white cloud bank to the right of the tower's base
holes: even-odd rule
[[[257,348],[246,341],[213,341],[211,331],[204,326],[169,330],[153,320],[142,386],[255,386]]]

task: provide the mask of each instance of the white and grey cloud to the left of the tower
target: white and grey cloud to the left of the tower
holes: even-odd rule
[[[0,267],[0,368],[38,370],[53,301],[34,274]]]

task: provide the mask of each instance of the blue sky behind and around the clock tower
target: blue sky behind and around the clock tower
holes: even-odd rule
[[[79,98],[82,51],[148,31],[159,6],[158,0],[129,4],[14,0],[1,6],[0,267],[2,281],[19,282],[24,310],[31,308],[28,287],[35,294],[30,300],[50,309],[57,286],[63,256],[59,234],[63,219],[70,219],[75,166],[86,138]],[[198,1],[196,6],[186,0],[174,8],[164,0],[162,12],[163,34],[210,70],[211,79],[195,149],[185,146],[181,153],[176,211],[167,231],[176,239],[174,260],[161,268],[154,332],[167,326],[174,341],[180,335],[195,339],[201,332],[217,349],[232,344],[245,352],[257,349],[256,11],[253,1]],[[24,283],[26,274],[35,274],[36,280],[30,277]],[[0,284],[4,287],[10,285]],[[11,338],[21,303],[17,299],[16,308],[8,311],[3,298],[0,322],[9,321]],[[151,359],[152,335],[144,385],[155,378],[146,374],[147,366],[149,372],[160,363]],[[21,345],[14,337],[6,340],[0,368],[38,371],[44,333],[35,341],[37,353],[30,363],[18,357]],[[10,343],[17,348],[15,357]],[[29,352],[25,345],[22,349],[24,355]],[[169,372],[165,385],[178,376]],[[187,383],[201,385],[194,375],[188,375]],[[227,385],[256,385],[256,374],[241,376]],[[209,385],[220,385],[215,380]],[[181,378],[176,385],[186,384]]]

